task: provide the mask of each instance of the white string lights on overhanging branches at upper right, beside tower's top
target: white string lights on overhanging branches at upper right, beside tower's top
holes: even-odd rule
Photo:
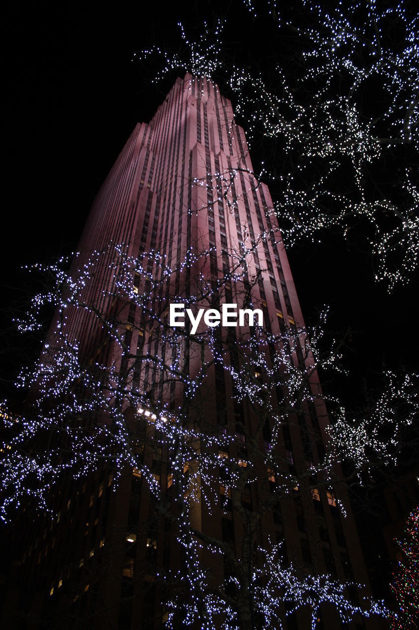
[[[271,71],[240,67],[237,57],[229,60],[225,22],[219,21],[215,30],[205,24],[194,38],[180,25],[182,54],[156,46],[135,59],[162,60],[155,82],[174,69],[215,81],[223,77],[249,147],[261,136],[264,146],[282,147],[281,171],[276,158],[275,164],[261,163],[257,177],[276,181],[275,210],[287,247],[307,239],[318,243],[327,230],[347,238],[354,224],[367,224],[362,232],[376,260],[376,280],[389,291],[408,282],[419,255],[417,173],[410,166],[419,149],[418,16],[403,1],[388,7],[376,0],[331,8],[302,0],[291,17],[271,1],[264,9],[243,0],[247,10],[253,20],[269,16],[279,45],[286,41],[289,47],[294,38],[301,54],[291,46],[293,59]],[[371,101],[383,94],[376,110],[364,106],[369,93]],[[408,161],[400,147],[408,147]],[[371,185],[383,164],[391,190],[381,182]]]

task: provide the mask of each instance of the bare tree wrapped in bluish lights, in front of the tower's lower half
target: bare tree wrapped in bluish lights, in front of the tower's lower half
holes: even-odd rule
[[[321,514],[323,506],[333,510],[335,536],[344,540],[347,485],[364,483],[396,456],[401,431],[417,414],[416,377],[397,386],[389,374],[391,389],[375,410],[355,419],[337,405],[329,425],[317,370],[333,367],[338,352],[320,357],[321,328],[312,331],[312,349],[305,329],[279,321],[276,332],[269,318],[257,325],[263,304],[253,289],[264,270],[243,282],[243,269],[258,243],[233,253],[222,279],[211,275],[211,252],[198,246],[178,269],[156,251],[133,258],[115,244],[76,255],[70,272],[67,261],[38,267],[53,284],[19,322],[23,331],[34,329],[45,303],[56,309],[42,356],[18,383],[29,392],[25,412],[16,417],[3,407],[3,519],[25,505],[26,512],[72,522],[77,506],[90,513],[99,505],[108,479],[109,488],[126,485],[131,496],[140,484],[150,502],[143,524],[137,512],[113,541],[95,534],[77,562],[108,549],[108,561],[119,566],[121,558],[128,581],[147,581],[151,562],[169,627],[281,628],[284,615],[300,609],[315,627],[325,602],[343,621],[386,615],[383,605],[351,601],[353,578]],[[244,325],[221,327],[217,309],[233,299],[247,310]],[[170,321],[170,303],[185,309],[184,327]],[[196,325],[199,309],[210,315],[201,312]],[[347,462],[349,477],[340,466]],[[84,480],[99,471],[106,476],[92,483],[87,507]],[[307,536],[302,556],[286,553],[283,529],[274,527],[291,504]],[[225,531],[206,530],[213,510],[225,515]],[[157,552],[162,524],[179,549],[180,568]],[[48,540],[62,526],[52,524]],[[142,541],[137,564],[126,541]],[[38,553],[31,549],[33,561]],[[52,595],[66,579],[64,569],[53,576]]]

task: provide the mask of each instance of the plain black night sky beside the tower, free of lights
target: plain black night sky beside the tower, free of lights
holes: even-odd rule
[[[171,13],[160,3],[12,4],[3,26],[4,329],[9,308],[26,292],[20,266],[77,248],[94,195],[135,123],[148,122],[170,89],[175,76],[155,88],[131,57],[154,41],[177,45],[182,17],[177,3]],[[210,14],[213,4],[204,4]],[[189,9],[191,24],[198,24],[200,6]],[[362,384],[383,364],[415,367],[418,276],[389,296],[374,284],[371,258],[354,241],[327,238],[289,251],[289,258],[306,319],[330,304],[332,327],[353,329],[349,364]],[[2,335],[1,379],[13,378],[27,347]]]

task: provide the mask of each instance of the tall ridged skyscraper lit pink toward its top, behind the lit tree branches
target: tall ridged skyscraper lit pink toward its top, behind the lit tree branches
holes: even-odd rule
[[[109,630],[163,627],[172,619],[167,600],[201,601],[229,575],[237,578],[246,558],[249,566],[262,570],[257,547],[269,548],[272,541],[283,541],[284,566],[292,562],[301,575],[331,573],[343,581],[368,583],[347,499],[342,496],[344,518],[338,492],[310,470],[324,453],[328,422],[316,372],[308,378],[311,396],[294,405],[293,421],[274,421],[275,411],[272,420],[269,414],[262,418],[263,410],[256,410],[252,398],[254,387],[267,390],[267,379],[277,379],[272,376],[277,355],[289,357],[296,370],[313,365],[272,208],[267,186],[255,180],[230,101],[204,78],[177,79],[151,122],[133,130],[92,207],[77,259],[77,268],[90,268],[95,256],[100,260],[84,292],[88,307],[57,313],[50,333],[53,344],[57,326],[65,327],[86,362],[101,362],[120,378],[125,375],[128,393],[120,417],[138,460],[130,465],[125,459],[115,492],[115,473],[106,460],[96,473],[78,473],[76,479],[69,475],[53,491],[51,504],[58,516],[52,524],[48,518],[34,521],[17,594],[11,598],[25,611],[22,627],[75,627],[77,622]],[[121,244],[118,258],[115,246]],[[116,281],[126,288],[126,268],[132,272],[132,287],[123,298]],[[191,306],[195,315],[198,306],[221,309],[222,304],[262,312],[261,328],[267,334],[262,367],[243,366],[243,358],[257,352],[259,340],[259,328],[252,329],[250,318],[240,333],[233,327],[213,328],[213,313],[210,324],[202,318],[193,335],[186,316],[184,329],[170,325],[170,304],[176,302]],[[98,313],[106,315],[102,322]],[[115,326],[112,341],[109,322]],[[204,347],[200,340],[210,329],[216,332]],[[223,369],[221,360],[210,360],[210,350],[223,355],[229,369]],[[234,377],[238,364],[243,381]],[[181,366],[178,377],[176,365]],[[186,382],[198,382],[203,369],[199,392],[188,398]],[[170,379],[165,378],[169,372]],[[295,374],[282,371],[282,385],[269,391],[266,410],[272,404],[286,408],[287,379]],[[197,444],[170,451],[168,434],[163,438],[162,425],[156,427],[162,421],[176,423],[177,415],[182,415],[185,432],[190,425],[189,435],[198,427],[199,438]],[[113,430],[112,418],[107,422]],[[199,457],[203,468],[196,463]],[[211,466],[219,468],[212,478]],[[259,470],[255,478],[251,469]],[[286,480],[282,486],[281,474]],[[244,479],[240,491],[232,487],[229,477],[234,475],[239,486]],[[153,483],[159,486],[159,500],[150,491]],[[192,529],[184,527],[180,513],[186,501]],[[196,554],[192,559],[189,547]],[[196,576],[191,575],[195,570]],[[240,627],[259,627],[263,610],[251,618],[245,610],[251,578],[243,571],[237,579],[239,586],[230,583],[225,599],[236,601],[242,611]],[[191,594],[194,588],[198,595]],[[356,599],[355,588],[350,596]],[[285,607],[279,611],[284,627],[311,627],[307,607],[287,618],[286,612]],[[10,610],[8,614],[13,619]],[[184,627],[185,614],[179,604],[175,627]],[[204,611],[196,614],[196,627],[210,627]],[[375,623],[366,621],[370,628]],[[364,627],[359,618],[354,624]],[[325,605],[318,613],[316,627],[339,627],[332,607]]]

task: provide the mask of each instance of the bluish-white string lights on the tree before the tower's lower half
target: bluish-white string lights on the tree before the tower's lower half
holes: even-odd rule
[[[243,269],[249,268],[250,258],[259,246],[260,239],[269,239],[271,236],[274,234],[264,232],[255,238],[253,246],[249,244],[243,249],[242,256],[237,254],[232,272],[226,278],[219,279],[216,287],[211,285],[204,273],[198,273],[199,292],[190,291],[187,295],[177,295],[176,299],[181,299],[191,307],[203,303],[210,305],[215,297],[221,299],[229,287],[235,292],[238,304],[240,299],[248,303],[249,295],[243,291]],[[271,331],[274,329],[273,323],[263,328],[254,326],[251,332],[250,328],[237,330],[233,345],[229,343],[225,332],[221,331],[220,336],[215,328],[204,328],[197,335],[188,336],[183,328],[170,328],[167,302],[174,296],[159,289],[170,286],[170,278],[176,277],[179,270],[192,265],[201,268],[201,263],[208,260],[208,251],[199,253],[191,248],[179,262],[178,268],[169,268],[164,256],[157,251],[148,251],[147,255],[140,258],[129,256],[126,252],[126,246],[111,243],[103,251],[94,251],[84,262],[82,256],[76,254],[74,265],[69,271],[65,270],[69,261],[64,259],[56,265],[35,265],[31,270],[45,273],[53,289],[34,297],[26,317],[18,321],[20,330],[38,329],[42,306],[45,304],[55,307],[57,318],[41,357],[34,365],[23,370],[18,380],[19,387],[38,392],[30,412],[21,418],[14,418],[6,403],[1,406],[1,418],[8,430],[7,441],[3,442],[1,452],[4,473],[2,483],[6,490],[1,518],[13,518],[16,510],[28,499],[39,510],[53,517],[50,498],[55,488],[59,487],[62,477],[72,474],[75,479],[86,478],[102,461],[111,464],[115,471],[114,488],[122,471],[130,466],[135,475],[144,480],[150,492],[161,500],[164,495],[160,478],[154,474],[153,467],[147,464],[147,459],[143,459],[143,451],[138,450],[140,438],[143,446],[153,452],[165,449],[167,461],[170,462],[173,500],[179,506],[180,513],[177,520],[178,542],[185,552],[187,571],[165,573],[164,579],[177,580],[179,585],[189,590],[191,597],[186,604],[186,626],[199,619],[201,627],[213,628],[216,617],[222,613],[223,627],[239,627],[237,609],[223,596],[232,588],[237,593],[241,588],[252,589],[254,608],[262,613],[265,627],[269,628],[281,627],[277,616],[281,602],[287,602],[291,606],[290,610],[296,610],[309,602],[313,620],[321,602],[335,605],[344,621],[354,614],[386,616],[386,609],[381,604],[367,602],[362,609],[352,605],[345,596],[345,583],[339,583],[328,575],[308,576],[304,572],[299,575],[292,564],[284,566],[279,548],[272,544],[266,549],[260,547],[258,553],[264,559],[260,564],[255,564],[249,585],[245,586],[244,578],[247,567],[242,564],[242,559],[237,559],[235,576],[228,578],[219,592],[215,593],[208,587],[207,570],[199,556],[203,547],[212,551],[216,557],[228,554],[226,547],[230,547],[223,541],[211,539],[195,530],[191,525],[191,510],[204,498],[211,513],[219,505],[221,493],[223,501],[233,501],[238,513],[247,514],[247,520],[254,519],[256,523],[260,518],[259,513],[247,512],[242,503],[245,488],[257,486],[260,505],[272,509],[272,506],[279,505],[293,493],[306,491],[311,496],[311,486],[307,486],[306,479],[316,472],[323,474],[325,484],[330,483],[335,464],[342,458],[352,458],[355,466],[365,469],[368,465],[368,446],[379,450],[387,461],[393,453],[394,440],[401,427],[394,406],[397,397],[411,405],[406,423],[410,423],[417,411],[413,377],[406,377],[401,386],[397,386],[393,379],[377,404],[376,413],[368,418],[368,425],[354,430],[342,414],[328,429],[331,439],[324,459],[312,464],[309,471],[306,464],[303,473],[295,471],[289,467],[289,455],[284,454],[282,427],[295,425],[295,415],[306,414],[310,404],[323,404],[321,393],[310,385],[310,378],[321,365],[320,340],[324,333],[326,314],[321,318],[320,327],[310,333],[314,340],[314,353],[307,331],[295,325],[286,326],[277,334]],[[147,260],[153,261],[152,268],[145,262]],[[103,304],[99,308],[91,287],[95,278],[103,277],[105,269],[110,270],[111,281],[106,287],[101,285],[98,289],[97,297]],[[137,278],[140,278],[138,282]],[[251,287],[257,285],[257,277],[248,276],[248,282],[249,278]],[[165,297],[150,304],[150,293],[143,290],[146,282],[153,287],[155,295]],[[119,318],[115,317],[115,312],[109,306],[115,302],[120,304]],[[252,302],[257,306],[255,297],[252,297]],[[135,311],[141,313],[141,317],[133,319],[128,328],[124,314],[130,305],[135,305]],[[68,332],[74,331],[70,324],[77,315],[92,318],[93,328],[100,327],[103,330],[101,344],[106,347],[108,340],[108,343],[118,348],[115,352],[117,360],[109,364],[100,354],[96,360],[86,360],[81,350],[84,341],[77,339],[74,332]],[[86,322],[87,319],[82,321]],[[84,329],[84,326],[80,329]],[[143,339],[157,339],[161,344],[159,347],[165,345],[169,351],[154,354],[145,350],[146,344],[138,346],[136,351],[135,346],[131,347],[126,340],[126,335],[139,335],[140,332]],[[190,356],[198,352],[202,357],[200,367],[194,370],[193,375],[186,370],[186,347],[189,348]],[[276,348],[275,353],[270,352],[272,347]],[[298,348],[304,352],[303,357],[298,357]],[[231,358],[232,352],[235,360]],[[122,368],[124,358],[125,368]],[[340,353],[332,350],[323,367],[334,369],[340,360]],[[164,383],[167,387],[170,387],[171,382],[181,385],[184,403],[170,408],[165,402],[170,397],[163,396],[160,399],[153,396],[150,399],[143,377],[133,387],[138,362],[142,365],[142,372],[145,365],[155,367],[156,383]],[[252,432],[242,423],[236,423],[233,427],[223,423],[208,423],[199,413],[191,413],[191,409],[197,407],[197,400],[203,395],[206,384],[212,382],[210,374],[213,365],[221,369],[225,378],[231,379],[235,404],[245,401],[254,410],[257,422]],[[284,392],[284,402],[281,404],[277,399],[279,389]],[[202,401],[198,404],[198,408],[204,406]],[[126,417],[126,411],[130,408],[135,410],[134,423],[130,423]],[[262,442],[267,419],[272,427],[269,447]],[[380,427],[392,428],[393,433],[388,442],[379,438]],[[45,444],[42,436],[46,433],[50,436],[48,448],[27,448],[28,444]],[[313,435],[310,440],[314,441]],[[62,450],[63,443],[65,452]],[[345,513],[343,505],[341,511]],[[178,605],[176,600],[169,602],[168,627],[171,627],[174,609]]]

